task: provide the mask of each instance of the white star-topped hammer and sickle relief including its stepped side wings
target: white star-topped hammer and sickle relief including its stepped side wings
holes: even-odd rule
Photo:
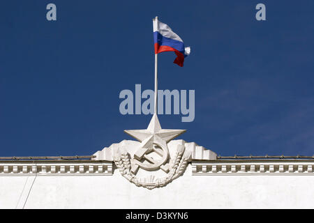
[[[137,141],[123,140],[105,147],[94,153],[93,160],[113,160],[121,176],[138,187],[149,190],[164,187],[184,174],[190,160],[217,158],[216,153],[194,142],[172,140],[186,130],[162,129],[157,114],[153,115],[147,129],[124,132]]]

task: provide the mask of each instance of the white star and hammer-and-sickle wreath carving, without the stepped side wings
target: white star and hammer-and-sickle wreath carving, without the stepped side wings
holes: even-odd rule
[[[172,145],[175,153],[172,151],[170,155],[168,143],[186,130],[163,130],[157,115],[154,114],[147,130],[125,130],[125,132],[140,143],[115,144],[112,157],[121,175],[131,183],[154,189],[167,185],[184,173],[192,152],[186,149],[185,144],[177,144]],[[139,169],[144,170],[142,172],[144,177],[137,176]],[[159,170],[166,175],[156,176],[156,171]],[[154,175],[151,174],[153,171],[155,171]]]

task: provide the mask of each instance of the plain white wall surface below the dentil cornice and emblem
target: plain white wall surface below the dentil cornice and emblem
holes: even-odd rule
[[[162,188],[108,175],[0,176],[0,208],[314,208],[314,176],[184,176]]]

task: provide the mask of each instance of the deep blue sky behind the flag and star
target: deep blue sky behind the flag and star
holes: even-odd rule
[[[46,20],[47,3],[57,21]],[[267,21],[255,20],[264,3]],[[152,18],[191,47],[160,54],[159,89],[195,89],[195,121],[160,115],[220,155],[313,155],[314,1],[1,1],[0,156],[90,155],[147,128],[119,92],[154,89]]]

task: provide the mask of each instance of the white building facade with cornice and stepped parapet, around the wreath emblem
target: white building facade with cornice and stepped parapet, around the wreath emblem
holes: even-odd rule
[[[186,145],[192,157],[184,173],[153,189],[121,176],[110,148],[91,160],[3,160],[0,208],[314,208],[311,158],[218,158]],[[145,172],[152,174],[137,176]]]

